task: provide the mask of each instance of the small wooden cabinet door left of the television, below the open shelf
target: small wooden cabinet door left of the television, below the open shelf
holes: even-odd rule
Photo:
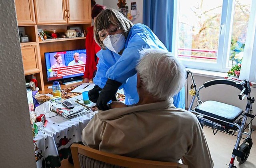
[[[23,67],[25,75],[30,75],[33,73],[40,73],[41,59],[39,56],[38,44],[34,43],[31,45],[22,44],[21,53],[23,59]]]

